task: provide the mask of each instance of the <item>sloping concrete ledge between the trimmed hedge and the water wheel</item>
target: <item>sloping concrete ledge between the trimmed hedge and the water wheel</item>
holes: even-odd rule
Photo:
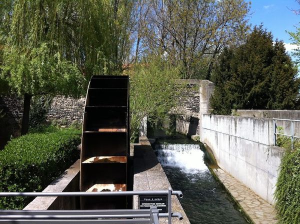
[[[80,159],[54,179],[42,192],[79,191]],[[79,198],[74,196],[36,197],[23,210],[78,209]]]

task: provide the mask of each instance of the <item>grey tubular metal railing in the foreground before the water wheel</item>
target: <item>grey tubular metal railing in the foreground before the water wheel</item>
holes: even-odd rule
[[[159,213],[158,209],[111,209],[111,210],[0,210],[0,223],[18,224],[66,224],[66,223],[132,223],[159,224],[159,217],[183,217],[179,212],[171,211],[171,195],[183,197],[180,190],[152,191],[103,191],[103,192],[0,192],[4,196],[133,196],[133,195],[167,195],[167,213]],[[128,219],[129,218],[129,219]]]

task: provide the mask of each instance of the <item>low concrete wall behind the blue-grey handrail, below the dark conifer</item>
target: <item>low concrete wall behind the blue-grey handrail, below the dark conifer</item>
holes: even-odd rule
[[[300,110],[238,109],[232,113],[239,116],[300,120]],[[275,122],[277,127],[283,127],[285,134],[300,136],[300,122],[293,122],[293,131],[290,121],[276,120]]]

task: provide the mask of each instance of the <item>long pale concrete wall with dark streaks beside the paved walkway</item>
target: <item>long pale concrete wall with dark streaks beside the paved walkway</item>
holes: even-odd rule
[[[284,152],[270,146],[272,130],[272,120],[268,118],[203,114],[200,135],[220,168],[271,204]]]

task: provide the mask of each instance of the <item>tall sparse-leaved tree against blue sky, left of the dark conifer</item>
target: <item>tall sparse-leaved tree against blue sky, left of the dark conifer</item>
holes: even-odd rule
[[[210,78],[225,47],[243,42],[249,4],[243,0],[145,0],[141,42],[183,65],[183,78]],[[140,45],[140,44],[139,44]],[[199,69],[201,76],[199,76]]]

